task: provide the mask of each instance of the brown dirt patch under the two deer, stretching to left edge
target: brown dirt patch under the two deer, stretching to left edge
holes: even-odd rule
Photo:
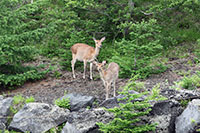
[[[25,97],[33,96],[37,102],[50,104],[67,93],[95,96],[99,102],[105,99],[105,89],[99,77],[90,80],[89,72],[86,74],[86,79],[82,78],[82,72],[76,72],[76,75],[76,79],[73,79],[71,72],[62,71],[62,76],[59,78],[47,77],[40,81],[28,82],[15,90],[3,91],[2,93],[7,96],[20,94]],[[98,72],[94,72],[94,75],[98,76]],[[124,86],[127,80],[118,79],[116,88]],[[112,91],[113,89],[111,89],[110,97],[112,97]]]

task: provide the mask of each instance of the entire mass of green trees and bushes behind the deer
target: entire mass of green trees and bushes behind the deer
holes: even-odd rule
[[[117,62],[120,76],[163,72],[167,67],[155,60],[162,51],[199,39],[199,6],[198,0],[1,0],[0,85],[42,78],[45,72],[23,66],[38,54],[57,56],[71,70],[70,47],[94,46],[92,37],[103,36],[98,59]]]

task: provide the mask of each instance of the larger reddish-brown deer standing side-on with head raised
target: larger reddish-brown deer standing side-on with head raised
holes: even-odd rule
[[[84,43],[76,43],[71,47],[71,52],[72,52],[72,73],[73,73],[73,78],[76,78],[75,72],[74,72],[74,65],[76,63],[76,60],[83,61],[84,63],[84,72],[83,72],[83,78],[85,79],[85,72],[86,72],[86,66],[87,62],[90,62],[90,79],[92,79],[92,61],[96,59],[96,57],[99,55],[99,50],[101,48],[102,42],[105,40],[105,37],[101,38],[101,40],[96,40],[93,38],[95,41],[96,47],[89,46]]]

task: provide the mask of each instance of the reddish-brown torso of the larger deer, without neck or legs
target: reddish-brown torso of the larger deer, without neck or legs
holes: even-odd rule
[[[83,59],[90,60],[95,49],[84,43],[76,43],[71,47],[72,54],[76,55],[76,58],[80,61]]]

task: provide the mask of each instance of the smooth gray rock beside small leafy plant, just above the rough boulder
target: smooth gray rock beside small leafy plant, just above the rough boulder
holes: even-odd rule
[[[95,98],[93,96],[83,96],[77,93],[67,94],[60,99],[69,98],[70,100],[70,110],[77,111],[81,108],[86,108],[87,106],[92,106]]]

